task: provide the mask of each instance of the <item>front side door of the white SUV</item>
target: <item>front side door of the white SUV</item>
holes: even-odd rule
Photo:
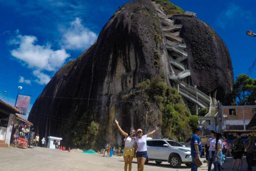
[[[164,146],[167,142],[163,140],[158,140],[157,148],[156,148],[156,158],[159,160],[168,160],[169,157],[169,145]]]

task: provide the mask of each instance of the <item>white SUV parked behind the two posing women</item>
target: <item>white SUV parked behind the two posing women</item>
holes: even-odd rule
[[[148,139],[147,140],[148,161],[155,161],[157,164],[167,161],[174,168],[181,164],[191,166],[192,157],[190,147],[184,147],[179,142],[165,139]]]

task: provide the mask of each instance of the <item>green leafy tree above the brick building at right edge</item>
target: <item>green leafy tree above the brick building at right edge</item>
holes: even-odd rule
[[[236,76],[234,95],[237,105],[255,105],[256,79],[252,79],[246,74]]]

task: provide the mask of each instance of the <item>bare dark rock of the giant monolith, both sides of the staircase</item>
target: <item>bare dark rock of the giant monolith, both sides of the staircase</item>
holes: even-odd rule
[[[217,93],[224,93],[226,99],[233,72],[225,44],[197,19],[176,18],[176,22],[183,24],[181,36],[187,43],[194,84],[207,93],[218,89]],[[60,136],[65,145],[72,145],[76,131],[96,121],[100,124],[97,144],[108,141],[120,145],[121,135],[114,119],[126,132],[131,127],[152,130],[159,123],[158,107],[153,104],[145,109],[141,97],[126,102],[122,96],[156,75],[165,75],[170,84],[170,64],[162,35],[150,0],[134,0],[121,6],[97,41],[57,71],[37,98],[28,118],[36,126],[36,133],[41,137]],[[150,111],[147,116],[146,111]],[[146,117],[154,122],[146,125]],[[161,138],[159,132],[155,138]]]

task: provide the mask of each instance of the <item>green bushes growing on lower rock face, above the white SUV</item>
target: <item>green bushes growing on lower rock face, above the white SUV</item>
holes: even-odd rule
[[[189,138],[192,132],[190,113],[181,100],[178,91],[168,86],[163,76],[156,76],[151,80],[147,79],[136,86],[136,91],[123,96],[124,99],[132,99],[141,96],[145,104],[157,104],[159,111],[159,123],[163,137],[184,141]],[[198,124],[198,120],[197,120]],[[192,123],[193,127],[194,123]]]

